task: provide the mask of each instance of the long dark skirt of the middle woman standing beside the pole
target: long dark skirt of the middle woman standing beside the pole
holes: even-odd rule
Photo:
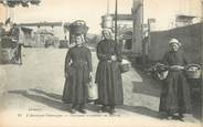
[[[124,104],[122,80],[117,62],[99,62],[96,72],[96,83],[98,84],[97,104]]]

